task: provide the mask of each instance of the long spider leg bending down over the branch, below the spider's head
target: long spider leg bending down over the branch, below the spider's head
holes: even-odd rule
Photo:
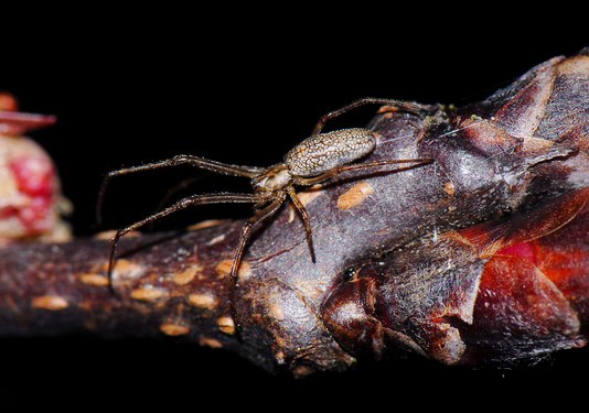
[[[237,309],[235,307],[235,292],[237,290],[237,286],[239,285],[238,270],[239,265],[242,264],[242,257],[244,256],[245,247],[247,246],[249,238],[251,238],[251,231],[254,227],[257,224],[261,224],[266,219],[275,215],[276,211],[280,208],[280,206],[285,203],[285,194],[279,193],[277,198],[275,198],[265,208],[257,210],[256,215],[249,218],[249,220],[244,224],[244,227],[242,228],[242,233],[239,235],[239,242],[237,243],[237,248],[235,249],[235,252],[233,254],[232,270],[229,272],[229,309],[235,323],[237,334],[239,334],[240,325],[237,318]]]

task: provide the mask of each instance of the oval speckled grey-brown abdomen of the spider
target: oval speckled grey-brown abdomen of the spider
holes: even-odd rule
[[[314,134],[292,148],[285,156],[285,164],[294,176],[317,176],[367,155],[375,145],[376,140],[368,129]]]

